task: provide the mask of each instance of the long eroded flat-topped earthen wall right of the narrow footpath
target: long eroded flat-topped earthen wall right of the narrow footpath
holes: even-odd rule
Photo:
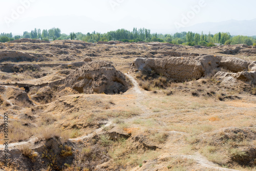
[[[228,72],[216,76],[232,76],[236,79],[256,83],[255,63],[239,58],[206,55],[172,58],[137,58],[132,71],[154,70],[157,74],[174,81],[200,79],[220,69]],[[225,74],[226,75],[225,75]]]

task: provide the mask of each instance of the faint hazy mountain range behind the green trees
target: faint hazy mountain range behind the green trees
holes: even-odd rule
[[[132,31],[133,27],[151,29],[152,33],[169,33],[178,32],[172,23],[148,23],[139,18],[125,17],[114,22],[99,22],[86,16],[45,16],[31,20],[18,20],[7,27],[5,23],[0,24],[0,32],[12,32],[22,34],[23,31],[31,31],[34,28],[43,29],[60,28],[62,33],[69,34],[70,32],[82,32],[84,34],[92,31],[105,33],[117,29],[127,29]],[[3,29],[3,30],[2,30]],[[196,33],[215,34],[218,32],[229,32],[231,35],[256,35],[256,19],[252,20],[228,20],[219,23],[201,23],[194,26],[181,28],[180,31],[192,31]]]

